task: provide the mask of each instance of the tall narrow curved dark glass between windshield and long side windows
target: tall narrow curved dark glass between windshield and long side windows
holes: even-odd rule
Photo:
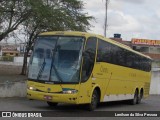
[[[82,82],[87,81],[92,73],[95,62],[96,44],[97,38],[94,37],[90,37],[86,42],[83,56]]]

